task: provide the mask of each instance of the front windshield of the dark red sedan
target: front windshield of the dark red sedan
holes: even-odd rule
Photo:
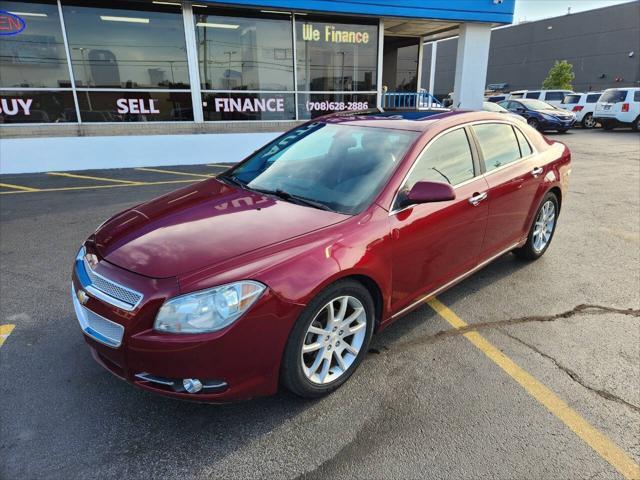
[[[381,191],[418,135],[315,122],[279,137],[220,178],[293,203],[356,214]]]

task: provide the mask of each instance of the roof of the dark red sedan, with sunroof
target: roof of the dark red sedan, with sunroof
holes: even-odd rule
[[[449,127],[482,120],[504,121],[506,119],[504,114],[482,110],[409,110],[393,112],[341,112],[316,120],[340,125],[425,132],[431,128],[439,128],[441,125]]]

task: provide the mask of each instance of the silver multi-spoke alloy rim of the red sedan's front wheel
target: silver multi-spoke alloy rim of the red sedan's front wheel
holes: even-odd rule
[[[349,370],[364,343],[367,313],[362,302],[345,295],[316,314],[300,352],[302,371],[316,385],[337,380]]]

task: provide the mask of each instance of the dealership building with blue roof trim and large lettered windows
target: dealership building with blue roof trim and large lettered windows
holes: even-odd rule
[[[419,102],[424,43],[453,36],[454,101],[479,108],[514,2],[0,1],[0,173],[234,162],[319,115]]]

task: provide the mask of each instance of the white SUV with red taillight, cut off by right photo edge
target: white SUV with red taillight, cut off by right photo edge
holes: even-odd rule
[[[605,130],[631,127],[640,130],[640,88],[609,88],[605,90],[593,113],[593,118]]]

